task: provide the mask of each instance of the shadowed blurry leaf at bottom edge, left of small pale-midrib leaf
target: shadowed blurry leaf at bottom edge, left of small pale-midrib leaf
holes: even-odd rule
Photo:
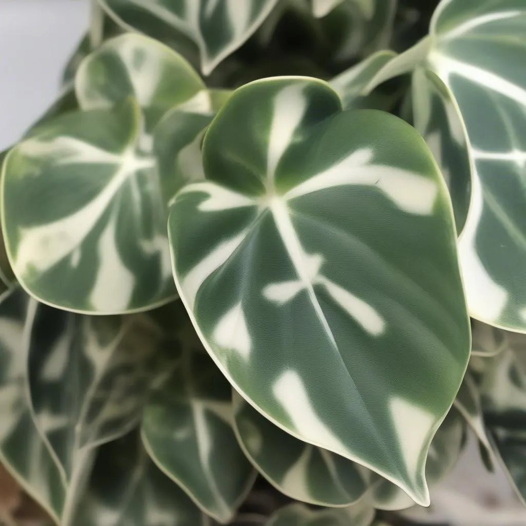
[[[148,457],[138,433],[100,448],[75,526],[213,526]]]

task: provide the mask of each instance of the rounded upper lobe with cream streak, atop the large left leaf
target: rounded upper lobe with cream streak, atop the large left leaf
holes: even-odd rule
[[[186,60],[153,38],[127,33],[113,38],[80,64],[75,92],[84,110],[111,108],[134,97],[152,129],[181,104],[210,113],[203,81]]]

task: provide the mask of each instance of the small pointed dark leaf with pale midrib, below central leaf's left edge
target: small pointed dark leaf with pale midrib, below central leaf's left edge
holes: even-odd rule
[[[208,515],[228,523],[256,472],[232,430],[230,385],[203,349],[182,305],[174,306],[164,378],[144,410],[142,436],[157,466]],[[172,321],[174,323],[174,321]]]

